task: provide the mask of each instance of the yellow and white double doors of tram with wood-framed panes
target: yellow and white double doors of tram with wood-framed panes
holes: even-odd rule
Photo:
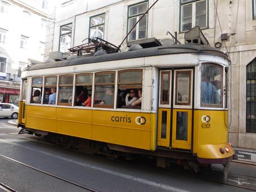
[[[193,70],[161,70],[157,145],[191,149]]]

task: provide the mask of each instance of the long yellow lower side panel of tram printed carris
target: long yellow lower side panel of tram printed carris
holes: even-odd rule
[[[28,128],[146,150],[154,149],[155,118],[151,113],[26,105]]]

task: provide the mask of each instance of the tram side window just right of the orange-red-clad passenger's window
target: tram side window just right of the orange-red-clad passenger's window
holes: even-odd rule
[[[95,74],[94,107],[114,107],[115,72]]]

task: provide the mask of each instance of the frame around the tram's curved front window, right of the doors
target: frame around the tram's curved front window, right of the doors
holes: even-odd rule
[[[211,65],[211,66],[217,66],[220,67],[221,71],[221,87],[220,87],[220,104],[202,104],[202,90],[201,90],[201,83],[202,83],[202,70],[200,74],[200,107],[210,107],[210,108],[218,108],[222,109],[223,108],[223,66],[218,65],[216,63],[202,63],[201,65]]]

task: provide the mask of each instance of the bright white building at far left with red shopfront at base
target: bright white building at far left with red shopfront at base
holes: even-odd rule
[[[21,71],[28,58],[44,60],[48,3],[0,1],[0,101],[18,104]]]

